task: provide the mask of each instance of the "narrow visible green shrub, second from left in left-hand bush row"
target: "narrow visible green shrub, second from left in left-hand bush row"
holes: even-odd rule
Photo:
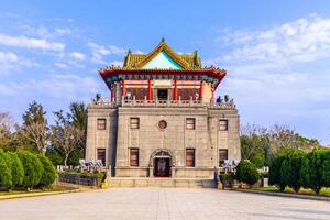
[[[12,186],[18,187],[18,186],[22,185],[23,179],[24,179],[23,164],[20,161],[16,153],[7,152],[7,155],[11,158]]]

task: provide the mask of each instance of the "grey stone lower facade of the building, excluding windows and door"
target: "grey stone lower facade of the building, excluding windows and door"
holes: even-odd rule
[[[139,129],[130,128],[130,119],[139,118]],[[195,119],[195,129],[186,129],[186,119]],[[97,120],[106,119],[106,130]],[[160,129],[158,122],[167,122]],[[221,131],[220,120],[228,120]],[[228,150],[228,161],[240,161],[240,121],[233,102],[206,105],[170,101],[153,105],[134,102],[110,105],[92,102],[88,107],[86,158],[96,160],[97,150],[106,150],[106,166],[118,177],[152,177],[157,152],[170,157],[172,177],[212,177],[220,166],[219,150]],[[130,148],[139,148],[139,166],[130,166]],[[186,148],[195,150],[195,166],[186,167]]]

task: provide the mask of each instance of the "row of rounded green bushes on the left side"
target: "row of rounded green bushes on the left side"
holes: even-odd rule
[[[48,187],[56,178],[52,162],[28,151],[4,152],[0,148],[0,190]]]

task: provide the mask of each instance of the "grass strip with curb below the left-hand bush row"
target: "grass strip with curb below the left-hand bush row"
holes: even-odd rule
[[[18,196],[22,195],[38,195],[38,194],[50,194],[50,193],[62,193],[62,191],[69,191],[75,188],[72,187],[64,187],[64,186],[53,186],[52,188],[48,189],[31,189],[29,191],[25,190],[11,190],[11,191],[0,191],[0,199],[1,198],[7,198],[11,196]]]

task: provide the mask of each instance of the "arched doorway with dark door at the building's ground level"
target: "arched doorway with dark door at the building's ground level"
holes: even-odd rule
[[[168,150],[157,150],[150,158],[150,167],[155,177],[170,177],[174,167],[174,156]]]

